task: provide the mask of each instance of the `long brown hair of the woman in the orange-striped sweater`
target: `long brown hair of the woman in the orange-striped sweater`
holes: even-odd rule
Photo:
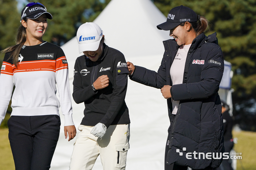
[[[27,22],[27,18],[24,19],[25,22]],[[1,51],[1,53],[11,52],[10,57],[8,60],[12,59],[12,63],[17,67],[18,61],[19,61],[19,53],[24,45],[24,43],[27,40],[27,33],[25,27],[23,25],[20,25],[17,33],[16,33],[16,45],[7,47],[4,50]]]

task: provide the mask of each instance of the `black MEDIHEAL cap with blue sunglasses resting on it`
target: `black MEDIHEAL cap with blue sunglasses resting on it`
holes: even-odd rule
[[[44,13],[48,19],[52,19],[52,15],[47,12],[46,7],[43,4],[31,2],[22,9],[20,22],[25,18],[37,19]]]

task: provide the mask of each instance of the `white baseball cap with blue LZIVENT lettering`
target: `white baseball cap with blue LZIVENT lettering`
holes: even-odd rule
[[[95,23],[84,23],[80,25],[76,33],[79,53],[83,51],[96,51],[99,48],[103,31]]]

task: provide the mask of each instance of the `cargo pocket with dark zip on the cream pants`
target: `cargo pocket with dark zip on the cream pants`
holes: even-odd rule
[[[116,144],[116,168],[124,168],[126,166],[127,151],[130,149],[129,142]]]

